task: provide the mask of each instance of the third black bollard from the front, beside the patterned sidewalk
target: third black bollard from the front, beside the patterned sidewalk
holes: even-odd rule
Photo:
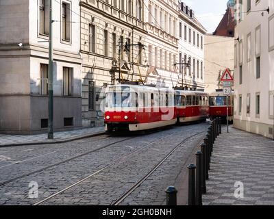
[[[202,156],[203,154],[201,151],[197,151],[196,153],[196,205],[203,205],[202,203],[202,191],[201,191],[201,184],[202,184]]]

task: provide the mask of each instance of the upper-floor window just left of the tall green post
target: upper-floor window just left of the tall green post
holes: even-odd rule
[[[49,0],[39,0],[39,34],[49,36]]]

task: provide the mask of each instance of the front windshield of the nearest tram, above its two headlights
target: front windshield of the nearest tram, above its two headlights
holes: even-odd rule
[[[138,94],[136,92],[108,92],[105,107],[138,107]]]

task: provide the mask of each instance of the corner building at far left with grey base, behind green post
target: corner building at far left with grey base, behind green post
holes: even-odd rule
[[[81,127],[79,1],[53,1],[54,129]],[[0,1],[0,132],[47,131],[49,1]]]

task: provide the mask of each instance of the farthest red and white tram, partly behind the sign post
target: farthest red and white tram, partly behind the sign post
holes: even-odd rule
[[[228,120],[233,121],[234,98],[233,94],[228,96]],[[221,117],[223,120],[227,118],[227,96],[223,95],[222,90],[216,90],[210,94],[210,120]]]

